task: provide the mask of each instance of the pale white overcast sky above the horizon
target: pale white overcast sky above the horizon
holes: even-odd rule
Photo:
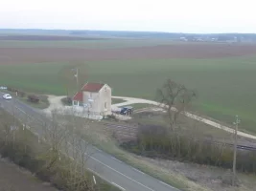
[[[2,29],[255,32],[254,0],[2,0]]]

